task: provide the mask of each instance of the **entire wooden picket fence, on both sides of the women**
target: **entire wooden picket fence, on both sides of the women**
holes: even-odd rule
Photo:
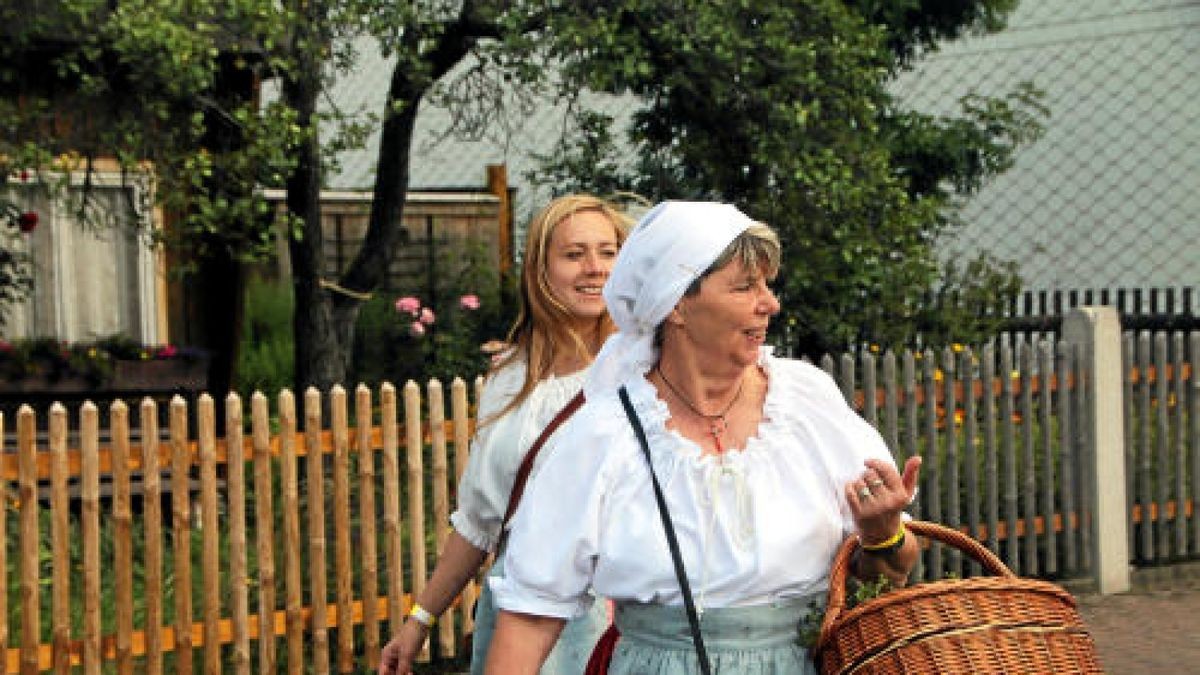
[[[1134,563],[1200,557],[1196,353],[1198,333],[1126,338]],[[1081,364],[1078,345],[1042,342],[821,365],[898,459],[925,458],[914,515],[970,532],[1020,574],[1062,579],[1094,565],[1096,440],[1081,430],[1097,393]],[[137,430],[121,402],[103,426],[90,404],[56,406],[43,435],[23,408],[0,452],[6,670],[372,670],[448,533],[473,432],[467,384],[449,390],[448,408],[436,381],[400,396],[360,386],[353,422],[341,387],[306,392],[300,417],[289,392],[274,413],[256,394],[248,423],[230,395],[223,437],[206,395],[196,410],[173,400],[166,430],[149,400]],[[918,575],[976,573],[932,548]],[[458,653],[476,590],[439,622],[433,656]]]

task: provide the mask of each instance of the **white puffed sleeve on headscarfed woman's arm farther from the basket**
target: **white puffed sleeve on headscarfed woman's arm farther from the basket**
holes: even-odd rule
[[[500,609],[574,619],[592,607],[587,591],[614,472],[604,408],[589,400],[556,435],[529,482],[509,533],[504,575],[488,579]]]

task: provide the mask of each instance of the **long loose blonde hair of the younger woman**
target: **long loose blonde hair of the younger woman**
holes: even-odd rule
[[[554,228],[581,211],[596,211],[612,223],[617,244],[625,241],[632,219],[614,204],[592,195],[566,195],[546,204],[529,221],[526,229],[524,263],[521,269],[521,306],[508,341],[512,345],[508,354],[496,364],[499,370],[514,362],[524,360],[526,377],[517,395],[499,412],[485,420],[487,424],[520,406],[538,382],[545,380],[554,366],[554,360],[566,351],[574,351],[583,363],[592,363],[592,351],[583,336],[572,325],[570,310],[554,297],[546,276],[546,252]],[[596,338],[602,341],[616,330],[606,311],[596,318]]]

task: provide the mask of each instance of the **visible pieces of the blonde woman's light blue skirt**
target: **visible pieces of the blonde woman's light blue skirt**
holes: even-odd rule
[[[504,575],[504,556],[502,555],[492,565],[488,577]],[[592,611],[578,619],[572,619],[563,627],[563,633],[558,637],[558,643],[550,652],[550,657],[541,665],[541,675],[580,675],[588,664],[592,656],[592,647],[595,646],[600,634],[608,628],[608,610],[602,599],[596,599],[592,604]],[[470,673],[482,675],[484,665],[487,663],[487,647],[492,644],[492,634],[496,632],[496,616],[499,608],[492,597],[492,585],[485,584],[479,595],[479,604],[475,605],[475,632],[470,639]]]

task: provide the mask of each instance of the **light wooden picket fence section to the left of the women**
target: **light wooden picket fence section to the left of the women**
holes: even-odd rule
[[[10,617],[20,623],[6,671],[82,664],[100,673],[108,661],[119,673],[185,675],[373,669],[449,532],[452,478],[466,466],[473,431],[462,380],[450,386],[449,418],[442,384],[431,382],[426,394],[422,414],[421,389],[406,384],[400,419],[392,386],[379,388],[378,405],[360,386],[352,425],[348,396],[335,387],[328,426],[316,389],[305,394],[299,419],[292,393],[278,395],[274,418],[268,399],[254,394],[248,434],[242,401],[230,394],[224,438],[216,437],[208,395],[197,400],[194,435],[180,398],[170,401],[166,434],[156,404],[145,400],[140,434],[131,435],[130,411],[118,401],[104,443],[100,411],[84,404],[78,447],[70,447],[68,414],[56,405],[44,448],[34,412],[22,408],[16,452],[0,454],[17,513],[16,537],[0,518],[0,538],[17,543],[19,571],[14,593],[0,575],[0,645],[13,645]],[[49,522],[38,496],[47,482]],[[104,556],[102,540],[110,548]],[[0,548],[6,569],[8,548]],[[440,655],[454,656],[470,632],[475,595],[473,581],[439,622]]]

